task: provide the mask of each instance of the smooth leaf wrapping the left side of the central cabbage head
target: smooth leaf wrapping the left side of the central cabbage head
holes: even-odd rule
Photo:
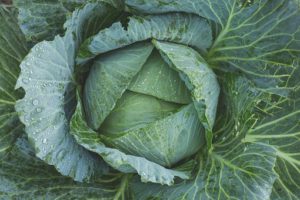
[[[152,49],[151,43],[137,43],[95,60],[84,86],[86,116],[93,129],[99,129]]]

